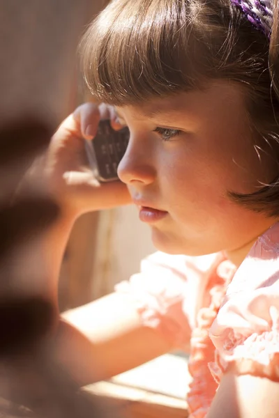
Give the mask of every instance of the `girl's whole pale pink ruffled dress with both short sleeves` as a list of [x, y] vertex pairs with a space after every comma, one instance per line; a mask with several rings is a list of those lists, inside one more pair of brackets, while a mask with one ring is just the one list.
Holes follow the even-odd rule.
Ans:
[[279, 381], [279, 223], [258, 238], [238, 270], [223, 254], [156, 253], [116, 286], [144, 325], [177, 347], [190, 341], [190, 418], [204, 418], [230, 362], [239, 374]]

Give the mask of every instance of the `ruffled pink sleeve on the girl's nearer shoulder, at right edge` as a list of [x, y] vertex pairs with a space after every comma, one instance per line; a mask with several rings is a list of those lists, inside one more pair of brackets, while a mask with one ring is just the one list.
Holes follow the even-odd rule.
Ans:
[[278, 242], [275, 224], [257, 240], [227, 288], [210, 330], [216, 362], [209, 366], [217, 375], [234, 362], [239, 374], [279, 381]]

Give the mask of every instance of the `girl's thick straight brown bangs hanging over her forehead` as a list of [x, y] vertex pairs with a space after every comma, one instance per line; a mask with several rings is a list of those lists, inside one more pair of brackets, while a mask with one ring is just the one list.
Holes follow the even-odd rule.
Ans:
[[80, 46], [95, 98], [123, 105], [199, 88], [204, 42], [195, 28], [199, 10], [189, 8], [190, 1], [112, 1]]

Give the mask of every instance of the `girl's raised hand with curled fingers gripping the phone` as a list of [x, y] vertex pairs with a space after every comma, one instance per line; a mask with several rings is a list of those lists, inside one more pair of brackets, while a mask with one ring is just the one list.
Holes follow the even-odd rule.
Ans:
[[130, 203], [126, 185], [120, 181], [99, 183], [86, 158], [84, 139], [91, 140], [100, 119], [108, 118], [115, 130], [121, 128], [112, 107], [82, 104], [52, 137], [45, 163], [48, 183], [62, 210], [75, 216]]

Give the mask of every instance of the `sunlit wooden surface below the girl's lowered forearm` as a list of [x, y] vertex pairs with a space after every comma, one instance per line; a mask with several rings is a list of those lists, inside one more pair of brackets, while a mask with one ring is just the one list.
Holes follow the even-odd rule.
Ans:
[[187, 359], [163, 355], [84, 390], [98, 396], [109, 417], [114, 417], [110, 411], [117, 411], [119, 418], [186, 418], [189, 381]]

